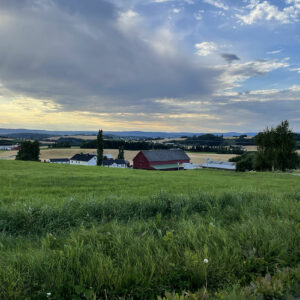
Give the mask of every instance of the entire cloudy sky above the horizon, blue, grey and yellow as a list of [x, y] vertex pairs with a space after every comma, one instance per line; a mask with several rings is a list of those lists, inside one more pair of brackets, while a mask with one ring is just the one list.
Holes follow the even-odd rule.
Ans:
[[0, 127], [300, 132], [300, 0], [1, 0]]

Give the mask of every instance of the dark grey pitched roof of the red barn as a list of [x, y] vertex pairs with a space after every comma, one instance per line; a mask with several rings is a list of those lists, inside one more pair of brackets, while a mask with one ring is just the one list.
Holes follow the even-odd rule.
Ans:
[[174, 150], [143, 150], [141, 151], [148, 161], [172, 161], [172, 160], [190, 160], [190, 158], [181, 149]]

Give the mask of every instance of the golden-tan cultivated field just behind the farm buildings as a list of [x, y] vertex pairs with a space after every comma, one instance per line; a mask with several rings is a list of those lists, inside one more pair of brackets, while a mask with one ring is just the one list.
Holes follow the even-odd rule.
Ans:
[[[125, 159], [132, 164], [133, 158], [139, 151], [128, 151], [125, 150]], [[80, 148], [63, 148], [63, 149], [49, 149], [41, 148], [40, 159], [42, 161], [48, 160], [49, 158], [71, 158], [77, 153], [93, 153], [96, 154], [95, 149], [80, 149]], [[119, 150], [117, 149], [105, 149], [104, 154], [112, 154], [113, 157], [117, 157]], [[228, 161], [229, 158], [235, 156], [230, 154], [214, 154], [214, 153], [187, 153], [191, 158], [191, 162], [195, 164], [203, 164], [207, 158], [212, 160]], [[0, 159], [15, 159], [17, 151], [5, 151], [0, 152]]]

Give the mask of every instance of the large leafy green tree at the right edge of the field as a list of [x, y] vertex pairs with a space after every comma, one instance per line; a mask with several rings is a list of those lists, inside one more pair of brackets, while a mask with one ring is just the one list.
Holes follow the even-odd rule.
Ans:
[[256, 169], [286, 171], [297, 167], [295, 135], [289, 129], [287, 120], [276, 128], [266, 128], [260, 132], [255, 137], [255, 142], [258, 146]]

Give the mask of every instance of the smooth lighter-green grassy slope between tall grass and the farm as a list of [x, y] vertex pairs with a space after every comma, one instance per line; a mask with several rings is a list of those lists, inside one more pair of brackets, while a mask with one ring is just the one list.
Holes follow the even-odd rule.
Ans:
[[194, 170], [152, 172], [86, 166], [0, 160], [3, 204], [19, 201], [60, 205], [75, 197], [85, 199], [147, 198], [164, 190], [170, 194], [206, 191], [299, 191], [300, 178], [287, 174], [235, 173]]

